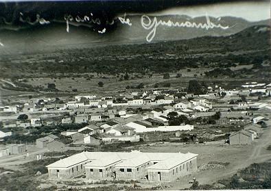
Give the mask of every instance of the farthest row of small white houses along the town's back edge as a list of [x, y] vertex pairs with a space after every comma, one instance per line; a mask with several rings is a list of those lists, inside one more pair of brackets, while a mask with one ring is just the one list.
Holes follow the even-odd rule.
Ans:
[[[178, 91], [177, 91], [178, 92]], [[208, 87], [208, 93], [195, 96], [193, 94], [187, 94], [184, 92], [184, 95], [180, 97], [174, 96], [174, 94], [163, 94], [165, 97], [161, 99], [156, 99], [157, 95], [161, 95], [161, 91], [154, 90], [152, 92], [132, 92], [131, 94], [120, 94], [119, 96], [122, 98], [118, 103], [113, 101], [113, 97], [102, 97], [98, 98], [97, 95], [78, 95], [75, 96], [75, 101], [68, 101], [67, 103], [56, 103], [56, 104], [48, 104], [51, 102], [51, 99], [44, 99], [43, 102], [43, 111], [47, 110], [67, 110], [78, 107], [114, 107], [114, 106], [138, 106], [138, 105], [163, 105], [174, 103], [176, 99], [187, 99], [189, 97], [206, 97], [212, 98], [220, 96], [224, 94], [225, 97], [233, 96], [236, 94], [244, 94], [248, 95], [251, 93], [262, 93], [263, 96], [270, 96], [271, 92], [271, 84], [259, 84], [257, 82], [247, 82], [246, 84], [241, 85], [241, 88], [236, 88], [233, 90], [224, 90], [221, 87], [215, 86]], [[195, 110], [208, 110], [210, 105], [206, 103], [200, 103], [194, 105]], [[23, 112], [35, 112], [38, 111], [35, 103], [25, 103], [23, 105]], [[3, 112], [18, 112], [18, 107], [15, 106], [5, 106], [3, 107]]]

